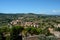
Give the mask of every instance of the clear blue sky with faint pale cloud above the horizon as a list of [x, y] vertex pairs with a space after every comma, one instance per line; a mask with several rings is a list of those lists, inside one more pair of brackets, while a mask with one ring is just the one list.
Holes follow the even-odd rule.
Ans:
[[60, 14], [60, 0], [0, 0], [0, 13]]

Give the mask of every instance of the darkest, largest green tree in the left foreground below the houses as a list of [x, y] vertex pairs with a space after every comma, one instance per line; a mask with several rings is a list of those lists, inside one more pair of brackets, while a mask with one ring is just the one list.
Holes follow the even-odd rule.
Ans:
[[10, 40], [18, 40], [17, 37], [22, 32], [24, 28], [21, 26], [13, 26], [10, 32], [11, 39]]

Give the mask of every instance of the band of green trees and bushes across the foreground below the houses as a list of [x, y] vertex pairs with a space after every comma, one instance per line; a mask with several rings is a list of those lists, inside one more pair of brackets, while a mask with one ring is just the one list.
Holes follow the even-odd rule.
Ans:
[[28, 37], [32, 35], [45, 34], [47, 36], [52, 35], [48, 30], [42, 30], [41, 28], [28, 27], [24, 28], [21, 26], [1, 27], [0, 28], [0, 40], [19, 40], [18, 38]]

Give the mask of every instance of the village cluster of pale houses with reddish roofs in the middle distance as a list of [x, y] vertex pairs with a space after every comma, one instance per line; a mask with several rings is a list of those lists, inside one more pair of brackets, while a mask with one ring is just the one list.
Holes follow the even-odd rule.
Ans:
[[33, 27], [39, 27], [39, 22], [24, 22], [24, 21], [21, 21], [21, 20], [13, 20], [12, 22], [10, 22], [12, 25], [16, 25], [16, 24], [19, 24], [20, 26], [33, 26]]

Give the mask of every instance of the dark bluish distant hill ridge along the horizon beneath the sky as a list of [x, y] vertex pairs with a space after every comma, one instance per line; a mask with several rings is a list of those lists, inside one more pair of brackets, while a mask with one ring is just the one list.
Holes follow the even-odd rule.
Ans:
[[37, 16], [60, 16], [60, 13], [57, 14], [36, 14], [36, 13], [0, 13], [0, 15], [37, 15]]

